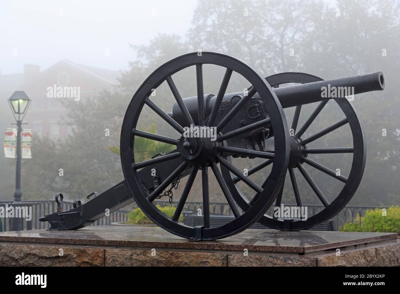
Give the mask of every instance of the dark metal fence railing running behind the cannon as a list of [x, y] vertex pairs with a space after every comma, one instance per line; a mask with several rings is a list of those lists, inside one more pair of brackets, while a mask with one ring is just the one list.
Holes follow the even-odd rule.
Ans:
[[[178, 202], [172, 202], [171, 204], [168, 201], [157, 201], [156, 204], [160, 204], [161, 206], [176, 206]], [[62, 211], [67, 211], [72, 209], [72, 202], [63, 201], [62, 202]], [[0, 207], [3, 207], [4, 210], [6, 208], [10, 209], [11, 206], [26, 206], [32, 207], [30, 218], [31, 220], [26, 220], [26, 218], [22, 218], [22, 228], [23, 230], [36, 230], [36, 229], [45, 229], [48, 228], [47, 222], [39, 222], [40, 216], [44, 216], [46, 214], [51, 214], [57, 210], [56, 202], [54, 200], [27, 200], [24, 202], [20, 202], [18, 204], [13, 204], [9, 201], [0, 201]], [[285, 206], [296, 206], [296, 204], [285, 204]], [[319, 204], [308, 204], [304, 205], [307, 207], [308, 217], [318, 213], [323, 209], [323, 205]], [[135, 208], [136, 205], [130, 205], [130, 207]], [[197, 214], [198, 209], [203, 208], [202, 202], [186, 202], [182, 213], [184, 214]], [[385, 206], [346, 206], [341, 212], [339, 212], [333, 219], [336, 221], [336, 226], [339, 228], [343, 226], [346, 222], [354, 222], [356, 220], [357, 215], [364, 216], [366, 210], [374, 209], [374, 208], [385, 208]], [[268, 210], [268, 214], [271, 215], [272, 208]], [[110, 225], [112, 222], [126, 222], [128, 220], [129, 210], [117, 210], [112, 212], [110, 216], [105, 216], [100, 218], [96, 222], [94, 222], [91, 226], [98, 225]], [[226, 202], [210, 202], [210, 213], [214, 215], [233, 215], [232, 211]], [[11, 231], [12, 230], [12, 221], [14, 218], [8, 217], [0, 217], [0, 231]], [[361, 218], [358, 220], [361, 224]]]

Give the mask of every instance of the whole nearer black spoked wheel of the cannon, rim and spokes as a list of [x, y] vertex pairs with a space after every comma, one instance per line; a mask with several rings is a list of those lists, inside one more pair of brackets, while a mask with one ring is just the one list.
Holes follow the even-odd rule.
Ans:
[[[225, 76], [220, 86], [220, 91], [216, 98], [215, 106], [208, 118], [204, 117], [204, 93], [203, 93], [203, 64], [215, 64], [226, 68]], [[195, 125], [194, 120], [190, 116], [186, 105], [184, 104], [182, 97], [180, 96], [177, 87], [174, 84], [172, 75], [176, 72], [187, 68], [189, 66], [196, 67], [196, 84], [198, 94], [198, 124], [199, 127], [213, 126], [213, 122], [222, 102], [226, 87], [230, 80], [232, 72], [237, 72], [242, 75], [248, 82], [252, 84], [252, 90], [248, 92], [247, 96], [244, 96], [242, 100], [236, 104], [234, 108], [226, 115], [224, 120], [218, 123], [216, 126], [218, 130], [218, 137], [216, 141], [211, 141], [209, 138], [188, 138], [187, 136], [181, 136], [180, 138], [169, 138], [166, 136], [160, 136], [158, 134], [150, 134], [137, 130], [136, 124], [144, 104], [148, 105], [154, 110], [159, 116], [161, 116], [172, 128], [184, 134], [182, 125], [178, 124], [168, 114], [166, 114], [161, 108], [159, 108], [154, 102], [150, 100], [152, 89], [156, 89], [164, 81], [168, 82], [170, 90], [174, 95], [180, 110], [185, 117], [187, 126]], [[253, 151], [248, 149], [234, 148], [229, 149], [228, 146], [224, 145], [224, 140], [220, 139], [220, 131], [224, 129], [224, 126], [234, 118], [238, 110], [252, 98], [252, 96], [258, 92], [262, 97], [266, 109], [268, 110], [269, 118], [260, 124], [269, 124], [275, 132], [275, 147], [276, 151], [274, 154], [268, 152]], [[259, 128], [260, 125], [253, 126]], [[231, 132], [227, 136], [237, 136], [242, 134], [244, 131], [251, 131], [251, 127], [246, 129], [239, 129], [235, 132]], [[166, 142], [169, 144], [176, 145], [176, 150], [151, 160], [144, 162], [135, 161], [134, 153], [134, 141], [135, 136], [149, 138], [160, 142]], [[228, 149], [227, 149], [228, 148]], [[228, 153], [241, 154], [243, 156], [261, 157], [261, 158], [273, 158], [271, 176], [268, 178], [266, 188], [261, 188], [251, 180], [246, 180], [252, 189], [259, 193], [258, 199], [254, 202], [254, 205], [246, 209], [244, 213], [239, 212], [232, 198], [231, 192], [227, 187], [224, 178], [222, 177], [218, 164], [224, 166], [227, 170], [230, 170], [234, 174], [242, 174], [238, 171], [227, 159]], [[196, 53], [190, 53], [173, 60], [170, 60], [166, 64], [156, 69], [138, 88], [134, 94], [122, 124], [121, 141], [120, 141], [120, 153], [121, 163], [124, 172], [124, 177], [128, 184], [130, 191], [133, 194], [138, 206], [142, 211], [153, 220], [158, 226], [164, 228], [168, 232], [176, 234], [178, 236], [192, 239], [192, 240], [216, 240], [224, 237], [231, 236], [242, 230], [245, 230], [261, 218], [269, 206], [272, 205], [278, 192], [282, 186], [282, 179], [286, 175], [288, 168], [288, 155], [289, 155], [289, 136], [288, 128], [286, 124], [286, 118], [282, 107], [280, 106], [279, 100], [276, 95], [266, 83], [265, 79], [256, 74], [250, 67], [244, 64], [242, 61], [237, 60], [233, 57], [226, 56], [223, 54], [202, 52], [201, 56]], [[229, 157], [229, 156], [228, 156]], [[181, 163], [177, 168], [168, 176], [164, 182], [162, 182], [151, 194], [146, 192], [142, 182], [140, 180], [139, 170], [147, 166], [151, 166], [156, 163], [166, 162], [168, 163], [173, 159], [181, 159]], [[232, 209], [235, 219], [230, 221], [228, 224], [219, 227], [210, 226], [210, 209], [209, 209], [209, 190], [208, 190], [208, 168], [211, 168], [215, 174], [218, 184]], [[178, 222], [178, 218], [182, 212], [186, 199], [192, 188], [192, 184], [198, 173], [201, 170], [202, 176], [202, 196], [203, 196], [203, 211], [204, 226], [202, 227], [191, 227], [186, 226]], [[186, 186], [183, 189], [182, 195], [178, 202], [176, 211], [172, 218], [163, 214], [155, 205], [154, 200], [156, 197], [170, 185], [175, 179], [180, 178], [183, 174], [189, 174]], [[147, 175], [141, 175], [147, 176]], [[148, 175], [150, 176], [150, 175]]]

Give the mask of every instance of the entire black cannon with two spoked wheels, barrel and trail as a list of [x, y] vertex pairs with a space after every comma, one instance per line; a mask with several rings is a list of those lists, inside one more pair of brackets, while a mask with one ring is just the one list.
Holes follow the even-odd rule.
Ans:
[[[203, 64], [224, 68], [216, 95], [204, 94]], [[196, 68], [197, 96], [182, 98], [172, 75], [190, 66]], [[232, 73], [240, 74], [249, 82], [242, 92], [227, 94]], [[172, 112], [166, 113], [151, 99], [154, 89], [165, 82], [176, 102]], [[292, 83], [294, 85], [284, 86]], [[74, 208], [63, 212], [62, 194], [56, 195], [58, 210], [42, 216], [40, 221], [50, 224], [49, 230], [73, 230], [92, 224], [108, 212], [136, 202], [142, 211], [158, 226], [190, 240], [217, 240], [237, 234], [260, 222], [269, 228], [283, 231], [304, 230], [324, 222], [344, 208], [360, 184], [366, 160], [366, 146], [358, 116], [346, 96], [383, 90], [382, 72], [348, 78], [323, 80], [317, 76], [286, 72], [262, 78], [244, 62], [214, 52], [190, 53], [179, 56], [157, 68], [134, 94], [124, 116], [120, 137], [120, 157], [124, 178], [106, 192], [92, 193], [84, 204], [74, 202]], [[332, 90], [333, 89], [333, 90]], [[334, 95], [332, 95], [334, 94]], [[306, 130], [321, 113], [329, 100], [334, 100], [344, 118], [312, 134]], [[318, 102], [306, 122], [298, 128], [302, 105]], [[144, 132], [137, 128], [138, 118], [147, 105], [170, 127], [179, 132], [179, 138]], [[296, 106], [289, 129], [284, 109]], [[352, 132], [352, 146], [309, 148], [308, 144], [348, 124]], [[174, 150], [150, 160], [135, 160], [135, 138], [143, 137], [176, 146]], [[273, 139], [272, 146], [266, 144]], [[271, 145], [271, 144], [270, 144]], [[308, 154], [352, 153], [350, 173], [343, 176], [308, 158]], [[232, 164], [232, 158], [262, 158], [263, 161], [246, 174]], [[307, 164], [319, 172], [343, 182], [344, 186], [333, 201], [328, 201], [320, 188], [304, 169]], [[218, 168], [219, 165], [219, 168]], [[270, 173], [261, 185], [248, 176], [270, 166]], [[210, 224], [208, 172], [215, 178], [232, 210], [234, 219], [221, 226]], [[307, 220], [276, 217], [266, 214], [271, 207], [280, 207], [286, 173], [294, 191], [296, 205], [303, 207], [302, 191], [298, 188], [294, 171], [298, 170], [310, 185], [323, 209]], [[203, 226], [186, 226], [179, 217], [190, 194], [196, 175], [202, 179]], [[163, 214], [155, 205], [156, 199], [177, 180], [187, 177], [176, 210], [172, 217]], [[156, 179], [156, 180], [155, 180]], [[245, 195], [238, 183], [243, 182], [254, 192]]]

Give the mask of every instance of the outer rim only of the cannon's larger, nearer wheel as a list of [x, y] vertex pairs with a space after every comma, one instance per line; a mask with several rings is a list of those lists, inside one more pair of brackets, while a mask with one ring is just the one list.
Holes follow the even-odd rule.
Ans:
[[158, 210], [145, 196], [145, 191], [140, 184], [140, 178], [138, 177], [137, 171], [132, 168], [132, 164], [135, 163], [133, 152], [134, 135], [132, 134], [132, 130], [136, 128], [139, 115], [144, 106], [144, 101], [150, 96], [151, 89], [157, 88], [162, 82], [164, 82], [167, 76], [171, 76], [188, 66], [196, 64], [219, 65], [231, 69], [234, 72], [238, 72], [246, 78], [246, 80], [252, 83], [254, 87], [260, 91], [260, 96], [263, 97], [262, 100], [266, 104], [267, 109], [270, 110], [269, 114], [271, 124], [280, 134], [277, 142], [280, 143], [281, 148], [275, 155], [276, 163], [274, 163], [274, 166], [272, 167], [273, 177], [271, 177], [269, 188], [262, 191], [261, 196], [256, 202], [257, 205], [251, 207], [248, 211], [244, 212], [241, 216], [235, 218], [228, 224], [216, 228], [202, 228], [202, 240], [216, 240], [237, 234], [260, 219], [275, 200], [277, 192], [280, 190], [281, 179], [286, 175], [289, 153], [286, 118], [278, 98], [264, 78], [256, 74], [254, 70], [242, 61], [224, 54], [213, 52], [202, 52], [201, 56], [198, 56], [197, 52], [189, 53], [166, 62], [146, 78], [134, 94], [126, 110], [121, 130], [120, 156], [122, 170], [128, 187], [132, 192], [136, 203], [146, 216], [148, 216], [158, 226], [172, 234], [187, 239], [194, 238], [196, 234], [194, 227], [173, 222], [170, 218], [162, 214], [160, 210]]

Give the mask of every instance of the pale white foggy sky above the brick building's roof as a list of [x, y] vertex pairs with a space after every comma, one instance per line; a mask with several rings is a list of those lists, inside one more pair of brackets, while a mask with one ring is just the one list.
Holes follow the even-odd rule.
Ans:
[[128, 69], [136, 59], [129, 44], [146, 44], [158, 33], [183, 36], [196, 2], [0, 0], [1, 74], [21, 73], [24, 64], [38, 64], [43, 71], [62, 59]]

